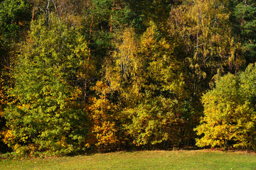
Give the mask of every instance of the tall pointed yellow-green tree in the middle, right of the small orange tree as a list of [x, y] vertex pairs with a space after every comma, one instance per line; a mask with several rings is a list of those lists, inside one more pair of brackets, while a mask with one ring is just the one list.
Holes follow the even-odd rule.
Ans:
[[133, 107], [124, 110], [131, 119], [126, 125], [129, 135], [134, 145], [179, 145], [184, 142], [183, 130], [186, 131], [182, 111], [186, 90], [181, 63], [173, 56], [174, 45], [151, 22], [137, 49], [139, 64], [134, 75], [139, 78], [134, 83], [139, 84], [141, 97], [138, 100], [138, 95], [129, 93], [129, 98], [137, 99]]

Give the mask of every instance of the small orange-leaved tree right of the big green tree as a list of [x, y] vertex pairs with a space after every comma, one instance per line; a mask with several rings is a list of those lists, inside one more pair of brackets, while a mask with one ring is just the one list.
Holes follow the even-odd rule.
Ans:
[[112, 95], [110, 87], [102, 81], [97, 81], [92, 88], [97, 96], [90, 97], [91, 127], [87, 144], [97, 149], [119, 149], [124, 142], [122, 115], [117, 103], [109, 98]]

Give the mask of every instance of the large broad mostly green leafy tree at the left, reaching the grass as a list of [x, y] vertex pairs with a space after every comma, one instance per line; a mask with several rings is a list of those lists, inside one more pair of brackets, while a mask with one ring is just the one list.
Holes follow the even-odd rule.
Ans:
[[81, 75], [87, 42], [79, 30], [51, 14], [31, 23], [21, 55], [14, 63], [16, 98], [4, 112], [5, 142], [16, 152], [74, 152], [85, 147], [87, 117]]

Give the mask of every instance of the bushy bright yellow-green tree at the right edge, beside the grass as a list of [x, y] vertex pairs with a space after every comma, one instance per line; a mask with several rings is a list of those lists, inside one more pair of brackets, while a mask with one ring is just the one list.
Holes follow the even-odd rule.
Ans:
[[221, 77], [215, 88], [203, 95], [204, 117], [195, 129], [199, 147], [255, 147], [255, 66], [238, 76]]

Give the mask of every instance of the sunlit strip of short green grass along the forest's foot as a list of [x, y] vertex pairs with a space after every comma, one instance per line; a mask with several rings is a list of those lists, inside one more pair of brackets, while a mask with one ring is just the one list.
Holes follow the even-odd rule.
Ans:
[[210, 150], [114, 152], [1, 160], [0, 169], [256, 169], [256, 154]]

